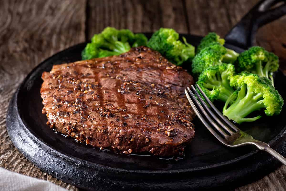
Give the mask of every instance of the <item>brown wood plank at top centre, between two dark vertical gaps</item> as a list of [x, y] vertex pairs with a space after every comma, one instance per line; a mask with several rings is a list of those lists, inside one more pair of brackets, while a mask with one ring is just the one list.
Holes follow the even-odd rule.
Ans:
[[179, 33], [188, 33], [183, 1], [88, 1], [87, 18], [89, 39], [107, 26], [134, 32], [170, 27]]

